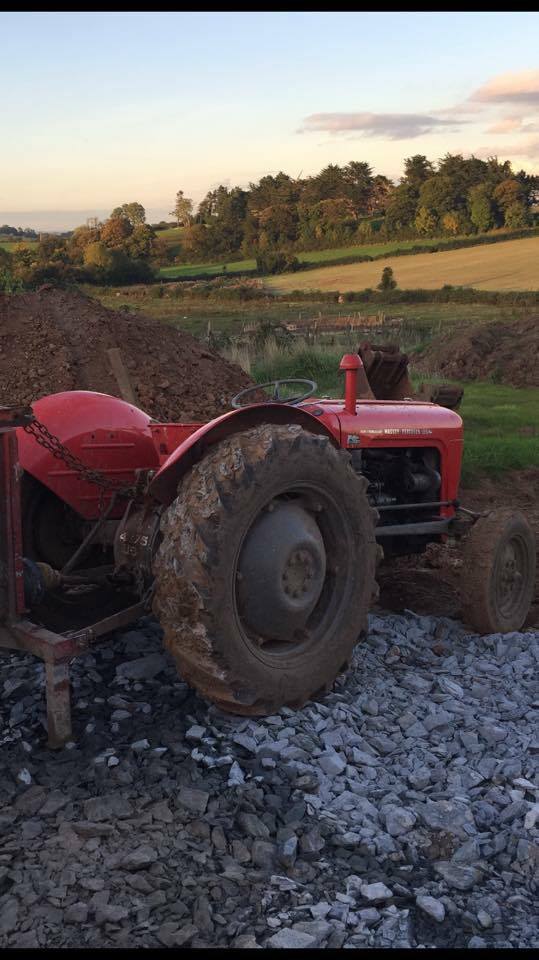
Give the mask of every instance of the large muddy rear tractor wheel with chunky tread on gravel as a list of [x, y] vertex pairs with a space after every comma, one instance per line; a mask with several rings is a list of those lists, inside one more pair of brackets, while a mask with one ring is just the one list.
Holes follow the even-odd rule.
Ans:
[[329, 438], [254, 427], [213, 447], [163, 514], [154, 613], [180, 675], [231, 713], [327, 692], [375, 593], [377, 513]]

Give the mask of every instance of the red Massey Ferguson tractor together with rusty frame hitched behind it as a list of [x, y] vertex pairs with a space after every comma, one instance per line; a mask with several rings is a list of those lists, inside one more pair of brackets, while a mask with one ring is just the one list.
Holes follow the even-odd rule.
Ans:
[[377, 399], [359, 354], [340, 368], [344, 400], [274, 381], [203, 424], [86, 391], [0, 408], [0, 646], [45, 661], [51, 746], [72, 737], [70, 660], [150, 611], [183, 679], [255, 715], [331, 687], [384, 556], [465, 537], [463, 618], [522, 627], [534, 535], [460, 507], [460, 416]]

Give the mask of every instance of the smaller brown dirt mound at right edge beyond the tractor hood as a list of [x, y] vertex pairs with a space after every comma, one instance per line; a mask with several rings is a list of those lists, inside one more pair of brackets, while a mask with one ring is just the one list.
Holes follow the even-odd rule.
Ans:
[[481, 324], [433, 343], [414, 370], [450, 380], [487, 380], [539, 387], [539, 317]]

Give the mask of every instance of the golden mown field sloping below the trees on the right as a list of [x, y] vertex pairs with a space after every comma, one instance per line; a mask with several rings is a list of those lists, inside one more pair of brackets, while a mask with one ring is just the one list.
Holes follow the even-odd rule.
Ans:
[[306, 273], [268, 277], [275, 293], [292, 290], [364, 290], [375, 288], [384, 267], [391, 267], [401, 289], [437, 289], [444, 284], [478, 290], [538, 290], [539, 237], [467, 247], [375, 263], [324, 267]]

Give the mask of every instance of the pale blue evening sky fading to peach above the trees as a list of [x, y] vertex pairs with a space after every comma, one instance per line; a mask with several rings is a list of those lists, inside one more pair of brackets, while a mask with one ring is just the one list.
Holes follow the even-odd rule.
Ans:
[[0, 223], [365, 160], [539, 173], [538, 13], [0, 13]]

